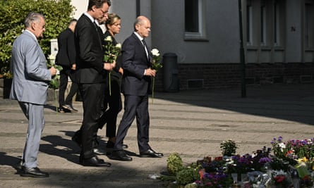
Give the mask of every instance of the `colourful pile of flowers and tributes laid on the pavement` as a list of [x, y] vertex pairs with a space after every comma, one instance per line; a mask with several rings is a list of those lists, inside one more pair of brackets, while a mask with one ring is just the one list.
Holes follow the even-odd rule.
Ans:
[[310, 188], [314, 180], [314, 139], [283, 141], [274, 138], [272, 147], [245, 155], [236, 154], [236, 142], [231, 139], [220, 144], [222, 156], [183, 165], [179, 153], [167, 159], [167, 173], [161, 180], [168, 187], [277, 187]]

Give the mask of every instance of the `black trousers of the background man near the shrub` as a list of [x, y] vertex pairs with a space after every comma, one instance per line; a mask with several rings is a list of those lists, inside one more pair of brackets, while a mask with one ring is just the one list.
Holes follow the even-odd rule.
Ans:
[[[73, 82], [72, 79], [72, 71], [68, 66], [62, 66], [62, 70], [60, 71], [60, 85], [59, 85], [59, 108], [61, 108], [64, 104], [69, 104], [72, 106], [73, 96], [78, 92], [78, 84]], [[68, 77], [71, 78], [72, 84], [70, 92], [68, 92], [68, 96], [66, 96], [66, 100], [64, 100], [64, 94], [66, 92], [66, 86], [68, 85]]]

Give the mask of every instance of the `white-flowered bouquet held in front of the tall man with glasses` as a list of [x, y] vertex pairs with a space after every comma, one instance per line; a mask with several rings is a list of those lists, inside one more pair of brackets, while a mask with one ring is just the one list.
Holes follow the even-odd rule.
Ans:
[[[104, 39], [106, 45], [104, 45], [104, 58], [103, 61], [107, 63], [114, 63], [116, 58], [121, 53], [121, 44], [118, 43], [114, 45], [113, 39], [111, 36], [108, 36]], [[109, 94], [111, 95], [111, 71], [109, 72]]]

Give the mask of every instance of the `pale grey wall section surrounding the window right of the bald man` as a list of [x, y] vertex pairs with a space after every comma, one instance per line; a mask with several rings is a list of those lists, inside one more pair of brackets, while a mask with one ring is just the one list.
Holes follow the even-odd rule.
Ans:
[[184, 1], [152, 1], [152, 46], [179, 63], [238, 63], [238, 1], [207, 1], [208, 41], [184, 40]]

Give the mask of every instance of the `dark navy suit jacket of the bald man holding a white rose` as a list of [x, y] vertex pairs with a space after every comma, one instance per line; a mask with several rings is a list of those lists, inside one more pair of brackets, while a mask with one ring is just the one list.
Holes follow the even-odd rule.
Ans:
[[144, 75], [149, 67], [143, 44], [133, 33], [122, 44], [122, 93], [135, 96], [151, 94], [151, 77]]

